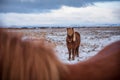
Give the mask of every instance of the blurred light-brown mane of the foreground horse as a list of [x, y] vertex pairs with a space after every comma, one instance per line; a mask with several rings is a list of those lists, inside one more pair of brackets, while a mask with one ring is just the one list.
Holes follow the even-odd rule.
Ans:
[[67, 68], [50, 47], [0, 29], [0, 80], [58, 80]]

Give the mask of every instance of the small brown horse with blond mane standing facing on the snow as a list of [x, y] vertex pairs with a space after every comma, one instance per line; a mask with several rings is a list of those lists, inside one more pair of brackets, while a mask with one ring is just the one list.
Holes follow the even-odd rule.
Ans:
[[80, 34], [78, 32], [74, 32], [73, 28], [67, 28], [67, 37], [66, 37], [66, 45], [69, 53], [69, 60], [75, 59], [75, 56], [79, 57], [79, 46], [80, 46]]

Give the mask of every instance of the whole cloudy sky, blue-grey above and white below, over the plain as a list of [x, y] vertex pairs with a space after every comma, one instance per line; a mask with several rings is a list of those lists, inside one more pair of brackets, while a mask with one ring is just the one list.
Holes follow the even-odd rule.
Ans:
[[0, 26], [120, 24], [120, 0], [0, 0]]

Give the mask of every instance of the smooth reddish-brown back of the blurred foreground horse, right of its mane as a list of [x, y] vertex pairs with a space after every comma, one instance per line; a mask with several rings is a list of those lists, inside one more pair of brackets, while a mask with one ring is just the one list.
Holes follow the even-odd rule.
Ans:
[[67, 66], [69, 73], [61, 80], [120, 80], [120, 41], [108, 45], [91, 59]]

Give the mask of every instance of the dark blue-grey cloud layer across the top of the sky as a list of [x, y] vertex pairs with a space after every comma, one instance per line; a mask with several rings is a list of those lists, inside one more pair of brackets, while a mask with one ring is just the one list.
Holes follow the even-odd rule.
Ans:
[[94, 2], [104, 1], [113, 0], [0, 0], [0, 12], [46, 12], [51, 9], [59, 9], [63, 5], [70, 7], [85, 7], [94, 5]]

